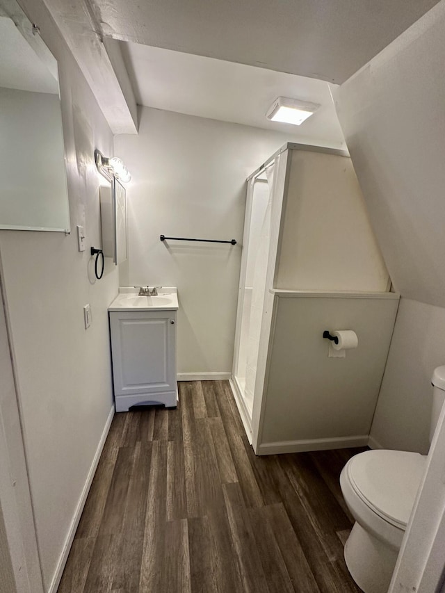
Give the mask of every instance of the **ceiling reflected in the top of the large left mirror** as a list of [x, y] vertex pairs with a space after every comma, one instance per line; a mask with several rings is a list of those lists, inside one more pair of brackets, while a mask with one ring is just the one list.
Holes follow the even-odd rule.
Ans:
[[0, 39], [0, 87], [58, 93], [58, 82], [8, 17], [0, 17]]

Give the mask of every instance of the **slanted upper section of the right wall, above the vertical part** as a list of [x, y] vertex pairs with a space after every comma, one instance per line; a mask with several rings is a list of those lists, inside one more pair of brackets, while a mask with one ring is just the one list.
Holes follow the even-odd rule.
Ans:
[[444, 39], [441, 2], [336, 98], [396, 291], [439, 307], [445, 307]]

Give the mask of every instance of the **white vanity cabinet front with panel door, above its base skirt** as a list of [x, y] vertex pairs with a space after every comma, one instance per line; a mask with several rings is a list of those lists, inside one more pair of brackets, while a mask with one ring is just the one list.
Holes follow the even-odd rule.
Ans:
[[115, 396], [176, 389], [175, 311], [110, 313]]

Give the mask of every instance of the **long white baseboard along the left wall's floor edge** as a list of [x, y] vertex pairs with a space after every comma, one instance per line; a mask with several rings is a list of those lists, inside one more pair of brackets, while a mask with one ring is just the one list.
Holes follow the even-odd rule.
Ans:
[[108, 414], [108, 418], [106, 419], [106, 423], [104, 426], [104, 430], [102, 431], [99, 444], [97, 445], [95, 457], [92, 460], [92, 464], [90, 466], [90, 471], [88, 471], [88, 476], [86, 478], [85, 485], [83, 486], [79, 502], [77, 503], [76, 510], [74, 512], [74, 517], [72, 518], [70, 529], [68, 530], [68, 534], [65, 539], [65, 544], [63, 544], [62, 553], [60, 554], [60, 557], [57, 562], [56, 571], [54, 572], [54, 576], [51, 580], [51, 585], [49, 585], [48, 593], [56, 593], [58, 585], [60, 585], [60, 579], [62, 578], [63, 569], [65, 568], [65, 564], [68, 559], [68, 554], [70, 553], [74, 535], [76, 535], [77, 526], [79, 525], [79, 521], [81, 520], [83, 507], [85, 506], [88, 492], [90, 492], [92, 478], [95, 477], [97, 464], [99, 463], [100, 455], [102, 453], [102, 449], [104, 448], [108, 430], [110, 430], [111, 421], [113, 421], [114, 413], [115, 412], [113, 404], [113, 407], [111, 408], [110, 413]]

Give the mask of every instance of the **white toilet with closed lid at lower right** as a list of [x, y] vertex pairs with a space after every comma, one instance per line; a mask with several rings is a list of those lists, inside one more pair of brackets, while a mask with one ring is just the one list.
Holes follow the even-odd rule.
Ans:
[[[432, 374], [430, 441], [445, 400], [445, 366]], [[340, 476], [346, 504], [355, 519], [345, 560], [364, 593], [387, 593], [426, 455], [371, 450], [352, 457]]]

